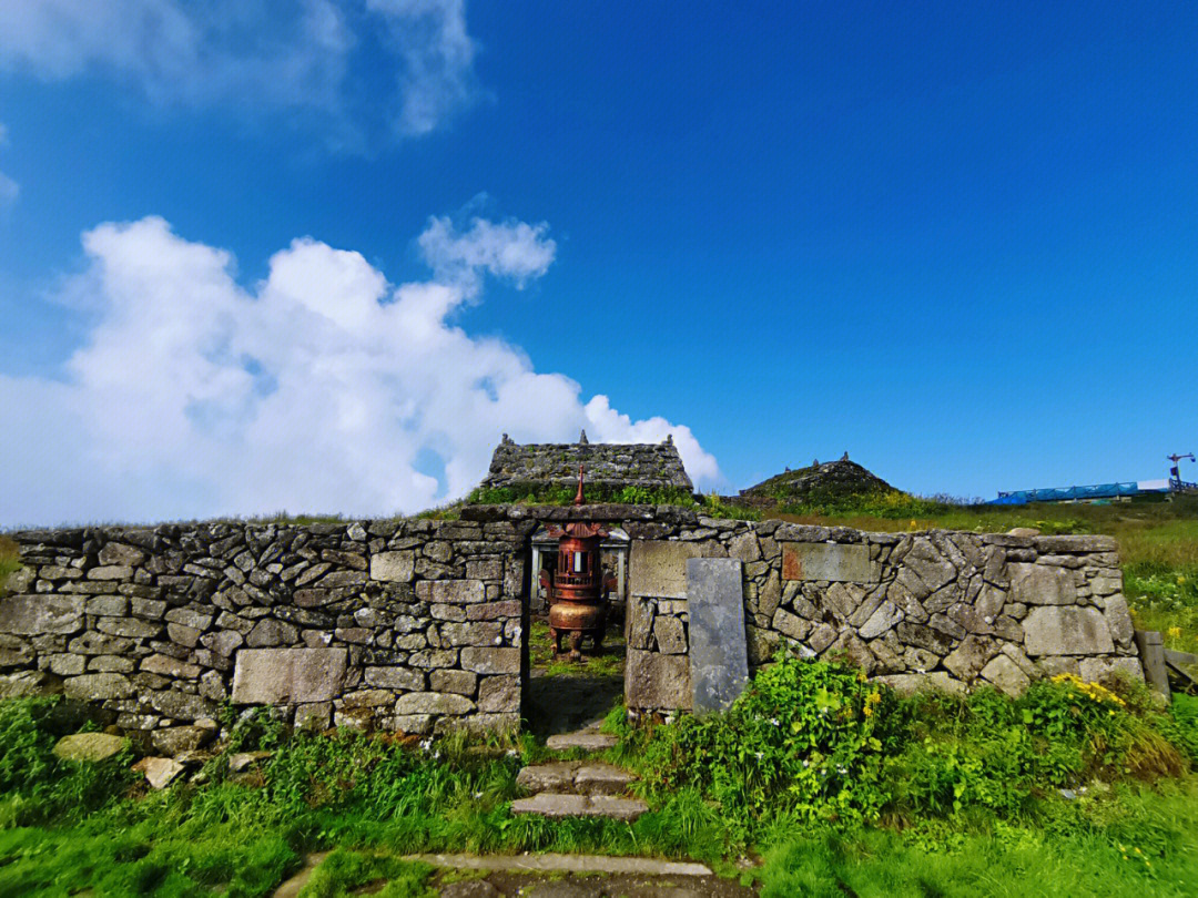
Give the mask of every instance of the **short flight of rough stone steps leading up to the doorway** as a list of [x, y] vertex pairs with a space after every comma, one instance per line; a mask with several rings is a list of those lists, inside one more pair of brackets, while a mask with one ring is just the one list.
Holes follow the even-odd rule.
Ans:
[[[576, 733], [550, 736], [550, 751], [582, 748], [601, 752], [616, 745], [616, 738], [592, 724]], [[514, 814], [539, 814], [546, 818], [607, 817], [631, 823], [648, 806], [628, 796], [628, 784], [636, 777], [601, 760], [553, 760], [525, 767], [516, 783], [532, 797], [512, 803]]]

